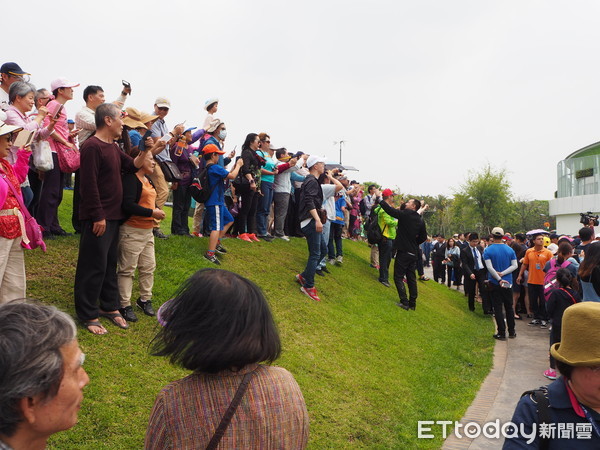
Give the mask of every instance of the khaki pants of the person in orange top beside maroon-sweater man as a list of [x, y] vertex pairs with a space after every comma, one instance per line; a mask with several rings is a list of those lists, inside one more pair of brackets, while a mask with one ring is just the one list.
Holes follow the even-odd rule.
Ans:
[[131, 291], [135, 269], [138, 269], [140, 282], [140, 298], [152, 300], [154, 285], [154, 235], [152, 228], [134, 228], [122, 225], [119, 230], [119, 260], [117, 264], [117, 281], [121, 307], [131, 305]]

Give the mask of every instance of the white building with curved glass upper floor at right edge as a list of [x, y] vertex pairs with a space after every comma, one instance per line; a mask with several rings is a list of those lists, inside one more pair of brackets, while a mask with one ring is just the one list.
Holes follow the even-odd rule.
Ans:
[[600, 211], [600, 142], [571, 153], [558, 163], [558, 189], [550, 200], [559, 234], [574, 235], [583, 226], [580, 213]]

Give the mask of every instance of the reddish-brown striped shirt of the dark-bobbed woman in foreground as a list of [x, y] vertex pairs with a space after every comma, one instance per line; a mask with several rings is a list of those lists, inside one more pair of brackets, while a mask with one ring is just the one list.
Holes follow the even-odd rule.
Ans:
[[[206, 448], [244, 375], [196, 373], [166, 386], [154, 403], [146, 449]], [[258, 365], [219, 448], [302, 449], [308, 413], [300, 387], [281, 367]]]

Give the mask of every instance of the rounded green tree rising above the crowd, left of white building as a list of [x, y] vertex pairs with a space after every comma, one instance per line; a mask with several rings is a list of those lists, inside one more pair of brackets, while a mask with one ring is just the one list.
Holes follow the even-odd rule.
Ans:
[[474, 224], [484, 233], [503, 225], [511, 209], [510, 188], [505, 169], [496, 170], [487, 164], [472, 172], [455, 197], [462, 223]]

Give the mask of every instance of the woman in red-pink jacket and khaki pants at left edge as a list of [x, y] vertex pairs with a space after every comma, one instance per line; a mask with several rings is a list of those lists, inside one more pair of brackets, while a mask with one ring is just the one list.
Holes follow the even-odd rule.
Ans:
[[25, 231], [20, 205], [21, 183], [27, 176], [31, 152], [20, 149], [14, 165], [7, 159], [16, 133], [21, 130], [0, 122], [0, 303], [25, 297], [25, 259], [21, 247]]

